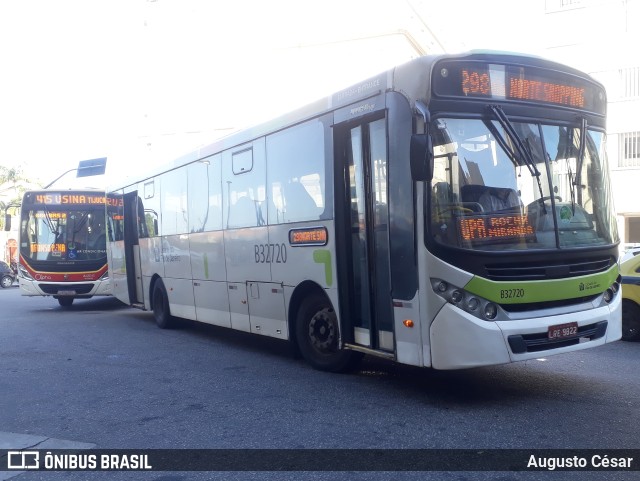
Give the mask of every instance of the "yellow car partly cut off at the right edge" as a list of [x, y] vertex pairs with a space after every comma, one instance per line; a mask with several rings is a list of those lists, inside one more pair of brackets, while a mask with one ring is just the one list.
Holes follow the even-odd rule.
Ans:
[[622, 339], [640, 340], [640, 251], [620, 264], [622, 275]]

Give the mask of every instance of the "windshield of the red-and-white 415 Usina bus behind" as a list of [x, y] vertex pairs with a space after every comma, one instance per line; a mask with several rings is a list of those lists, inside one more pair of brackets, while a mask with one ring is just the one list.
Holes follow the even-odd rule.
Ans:
[[31, 260], [88, 261], [107, 256], [104, 207], [42, 208], [23, 214], [21, 254]]

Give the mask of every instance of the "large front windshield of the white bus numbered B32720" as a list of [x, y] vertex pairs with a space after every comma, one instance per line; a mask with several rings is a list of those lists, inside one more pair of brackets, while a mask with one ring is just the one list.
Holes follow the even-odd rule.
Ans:
[[603, 132], [485, 119], [431, 125], [432, 238], [474, 250], [566, 249], [617, 242]]

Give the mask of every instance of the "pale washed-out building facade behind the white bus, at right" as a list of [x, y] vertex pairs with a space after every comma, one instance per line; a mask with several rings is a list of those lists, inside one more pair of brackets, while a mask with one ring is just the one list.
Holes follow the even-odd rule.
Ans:
[[547, 56], [607, 89], [607, 153], [623, 249], [640, 245], [640, 0], [545, 0]]

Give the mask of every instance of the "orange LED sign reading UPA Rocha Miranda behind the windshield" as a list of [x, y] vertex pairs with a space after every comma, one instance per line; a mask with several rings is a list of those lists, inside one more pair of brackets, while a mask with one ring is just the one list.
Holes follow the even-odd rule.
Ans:
[[533, 239], [535, 232], [523, 215], [463, 217], [458, 220], [460, 237], [465, 242], [500, 242]]

